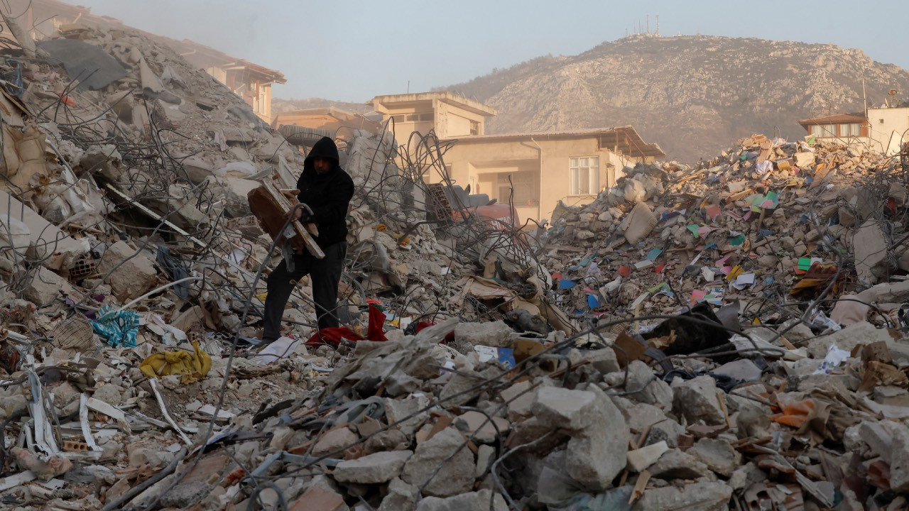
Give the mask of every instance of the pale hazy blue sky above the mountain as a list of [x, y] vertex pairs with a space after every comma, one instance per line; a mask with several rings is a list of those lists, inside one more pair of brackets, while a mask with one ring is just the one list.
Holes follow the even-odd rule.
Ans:
[[909, 69], [909, 0], [75, 0], [285, 74], [282, 98], [426, 92], [634, 33], [832, 43]]

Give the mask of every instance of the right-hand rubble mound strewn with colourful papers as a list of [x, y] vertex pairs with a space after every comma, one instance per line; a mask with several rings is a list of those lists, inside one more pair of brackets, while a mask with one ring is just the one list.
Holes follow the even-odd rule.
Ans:
[[814, 298], [834, 273], [838, 295], [909, 269], [896, 243], [903, 168], [862, 145], [763, 135], [694, 168], [638, 164], [592, 204], [559, 206], [542, 261], [561, 270], [559, 303], [573, 316], [741, 299], [750, 319], [779, 322], [793, 311], [774, 302]]

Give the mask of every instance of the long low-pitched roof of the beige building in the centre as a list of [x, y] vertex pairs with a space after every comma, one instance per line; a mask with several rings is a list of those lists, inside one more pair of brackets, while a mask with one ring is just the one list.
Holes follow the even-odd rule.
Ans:
[[644, 142], [644, 139], [641, 138], [641, 135], [638, 135], [637, 130], [635, 130], [631, 125], [586, 130], [466, 135], [450, 137], [449, 140], [457, 140], [461, 143], [470, 143], [487, 140], [526, 140], [529, 138], [552, 140], [578, 138], [582, 136], [597, 136], [600, 138], [600, 145], [602, 147], [619, 151], [624, 155], [654, 158], [666, 157], [666, 154], [659, 145], [648, 144]]

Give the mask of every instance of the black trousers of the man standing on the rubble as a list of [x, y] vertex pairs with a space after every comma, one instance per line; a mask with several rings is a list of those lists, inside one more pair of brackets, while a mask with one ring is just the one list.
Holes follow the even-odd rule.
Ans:
[[287, 265], [281, 261], [272, 275], [268, 276], [265, 332], [262, 336], [264, 340], [274, 341], [281, 336], [281, 317], [284, 316], [287, 299], [294, 291], [297, 281], [307, 275], [313, 283], [313, 301], [319, 329], [340, 326], [335, 309], [338, 301], [338, 283], [341, 282], [344, 258], [347, 255], [347, 242], [329, 245], [322, 251], [325, 252], [324, 259], [316, 259], [309, 252], [296, 254], [293, 272], [288, 272]]

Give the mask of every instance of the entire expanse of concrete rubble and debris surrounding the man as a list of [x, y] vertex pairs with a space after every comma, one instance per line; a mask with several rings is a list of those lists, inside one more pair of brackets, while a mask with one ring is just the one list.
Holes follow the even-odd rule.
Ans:
[[355, 132], [345, 331], [301, 286], [261, 347], [246, 197], [302, 155], [65, 35], [3, 65], [4, 506], [905, 508], [905, 152], [755, 136], [525, 232], [422, 182], [450, 143]]

